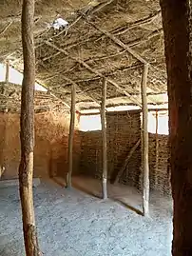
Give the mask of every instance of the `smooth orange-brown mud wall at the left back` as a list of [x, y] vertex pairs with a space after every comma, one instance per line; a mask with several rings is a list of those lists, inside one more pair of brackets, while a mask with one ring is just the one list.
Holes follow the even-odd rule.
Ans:
[[[0, 113], [0, 165], [6, 167], [2, 178], [18, 177], [20, 161], [19, 114]], [[76, 118], [78, 128], [78, 116]], [[67, 172], [69, 114], [45, 112], [35, 114], [34, 176], [65, 176]], [[74, 167], [78, 166], [80, 142], [74, 140]]]

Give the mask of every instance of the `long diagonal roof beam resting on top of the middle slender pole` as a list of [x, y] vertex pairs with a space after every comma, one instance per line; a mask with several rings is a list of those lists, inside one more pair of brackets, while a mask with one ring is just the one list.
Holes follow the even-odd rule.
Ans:
[[[82, 66], [84, 66], [86, 69], [88, 69], [89, 71], [99, 75], [101, 78], [106, 78], [105, 75], [103, 75], [102, 73], [100, 73], [99, 71], [97, 71], [96, 69], [92, 69], [89, 65], [87, 65], [84, 61], [80, 60], [77, 57], [73, 57], [70, 56], [70, 54], [67, 52], [67, 50], [65, 49], [60, 49], [58, 47], [56, 47], [55, 45], [53, 45], [52, 43], [46, 41], [45, 44], [47, 44], [49, 47], [53, 48], [53, 49], [57, 49], [58, 51], [63, 52], [64, 54], [66, 54], [71, 60], [74, 60], [75, 62], [80, 63]], [[130, 100], [134, 103], [137, 104], [138, 106], [142, 107], [141, 103], [133, 98], [127, 91], [125, 91], [125, 89], [122, 89], [114, 80], [112, 79], [108, 79], [106, 78], [106, 82], [110, 83], [111, 85], [113, 85], [114, 87], [116, 87], [116, 89], [118, 89], [121, 93], [124, 93], [127, 97], [130, 98]]]

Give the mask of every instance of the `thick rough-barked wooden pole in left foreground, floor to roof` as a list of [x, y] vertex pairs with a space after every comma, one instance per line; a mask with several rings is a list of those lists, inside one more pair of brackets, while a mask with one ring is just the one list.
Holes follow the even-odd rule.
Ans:
[[27, 256], [40, 255], [35, 226], [32, 177], [34, 148], [34, 84], [35, 53], [33, 43], [34, 0], [23, 0], [22, 45], [24, 56], [24, 78], [21, 95], [21, 162], [19, 166], [19, 188], [23, 215], [23, 231]]

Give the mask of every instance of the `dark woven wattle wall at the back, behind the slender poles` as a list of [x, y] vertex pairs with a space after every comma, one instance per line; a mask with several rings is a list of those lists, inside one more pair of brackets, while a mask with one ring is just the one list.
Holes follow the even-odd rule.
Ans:
[[[130, 149], [141, 139], [139, 111], [106, 114], [108, 178], [113, 181], [124, 166]], [[80, 132], [81, 161], [80, 173], [98, 179], [102, 178], [102, 134], [101, 131]], [[169, 194], [168, 136], [158, 135], [158, 158], [156, 158], [156, 135], [149, 133], [150, 188]], [[120, 182], [142, 189], [143, 172], [141, 145], [132, 155]]]

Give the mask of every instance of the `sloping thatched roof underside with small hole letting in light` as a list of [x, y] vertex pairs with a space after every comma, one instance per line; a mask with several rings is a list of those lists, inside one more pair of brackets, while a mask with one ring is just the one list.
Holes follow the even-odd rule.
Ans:
[[[0, 55], [22, 70], [21, 1], [1, 5]], [[48, 26], [58, 16], [67, 30]], [[98, 108], [106, 77], [107, 106], [141, 106], [143, 61], [149, 63], [148, 104], [167, 104], [159, 1], [37, 0], [35, 47], [37, 81], [67, 105], [76, 83], [77, 108]]]

